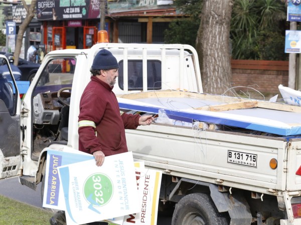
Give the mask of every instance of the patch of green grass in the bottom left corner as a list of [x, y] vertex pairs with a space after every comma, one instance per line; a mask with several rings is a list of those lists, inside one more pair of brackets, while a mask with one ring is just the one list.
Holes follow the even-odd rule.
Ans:
[[53, 212], [0, 195], [0, 225], [46, 225]]

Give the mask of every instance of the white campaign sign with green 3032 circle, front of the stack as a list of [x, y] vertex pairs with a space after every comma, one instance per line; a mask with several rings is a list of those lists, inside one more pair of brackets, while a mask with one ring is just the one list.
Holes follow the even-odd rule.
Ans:
[[132, 152], [59, 166], [67, 224], [83, 224], [139, 212]]

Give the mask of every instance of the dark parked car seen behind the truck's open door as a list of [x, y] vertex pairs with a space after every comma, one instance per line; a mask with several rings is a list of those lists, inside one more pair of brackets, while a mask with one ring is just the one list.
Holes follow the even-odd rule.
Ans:
[[[0, 54], [6, 54], [6, 52], [0, 51]], [[0, 65], [2, 65], [2, 61], [0, 61]], [[27, 60], [19, 57], [18, 68], [21, 70], [21, 73], [22, 73], [20, 80], [31, 82], [33, 80], [33, 78], [35, 77], [40, 65], [41, 64], [39, 64], [39, 63], [27, 61]]]

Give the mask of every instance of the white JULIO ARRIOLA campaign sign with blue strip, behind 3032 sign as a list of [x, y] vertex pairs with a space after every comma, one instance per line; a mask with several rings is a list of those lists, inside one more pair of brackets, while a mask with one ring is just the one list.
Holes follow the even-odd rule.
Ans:
[[65, 210], [58, 166], [93, 159], [93, 155], [77, 150], [47, 150], [43, 207]]

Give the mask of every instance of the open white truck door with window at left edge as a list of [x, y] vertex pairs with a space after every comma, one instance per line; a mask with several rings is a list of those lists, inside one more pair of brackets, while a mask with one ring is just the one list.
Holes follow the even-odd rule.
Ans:
[[12, 70], [0, 55], [0, 179], [21, 173], [21, 100]]

